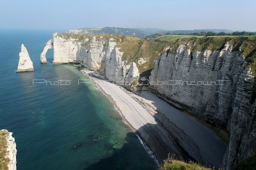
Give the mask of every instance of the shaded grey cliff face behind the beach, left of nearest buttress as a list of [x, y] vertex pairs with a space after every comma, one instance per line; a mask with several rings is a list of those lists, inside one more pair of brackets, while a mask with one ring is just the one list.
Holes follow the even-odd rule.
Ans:
[[177, 54], [163, 54], [156, 60], [150, 88], [209, 122], [226, 126], [237, 80], [246, 69], [244, 58], [231, 51], [226, 44], [221, 51], [191, 52], [184, 42]]

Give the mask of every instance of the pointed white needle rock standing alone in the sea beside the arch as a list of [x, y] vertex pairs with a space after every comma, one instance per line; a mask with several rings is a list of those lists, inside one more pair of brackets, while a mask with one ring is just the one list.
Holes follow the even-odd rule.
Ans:
[[19, 56], [19, 65], [16, 72], [34, 71], [33, 62], [29, 57], [28, 50], [23, 44], [21, 45]]

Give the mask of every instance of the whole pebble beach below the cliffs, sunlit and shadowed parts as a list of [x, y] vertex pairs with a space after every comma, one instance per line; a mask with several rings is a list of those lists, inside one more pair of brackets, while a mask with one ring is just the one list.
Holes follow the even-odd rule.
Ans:
[[157, 166], [169, 153], [204, 166], [221, 166], [225, 153], [221, 141], [214, 139], [217, 134], [195, 118], [173, 110], [173, 106], [152, 92], [134, 94], [94, 71], [80, 71], [114, 104], [122, 121], [143, 141], [141, 144], [150, 157], [152, 154], [152, 158], [156, 157]]

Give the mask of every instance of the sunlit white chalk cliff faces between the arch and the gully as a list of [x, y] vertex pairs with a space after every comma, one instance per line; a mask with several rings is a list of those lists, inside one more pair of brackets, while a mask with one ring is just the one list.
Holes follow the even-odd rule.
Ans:
[[116, 41], [119, 39], [92, 36], [82, 41], [64, 38], [55, 33], [53, 38], [54, 64], [80, 62], [90, 70], [99, 71], [110, 81], [136, 90], [140, 73], [135, 62], [122, 60], [124, 52], [120, 51]]

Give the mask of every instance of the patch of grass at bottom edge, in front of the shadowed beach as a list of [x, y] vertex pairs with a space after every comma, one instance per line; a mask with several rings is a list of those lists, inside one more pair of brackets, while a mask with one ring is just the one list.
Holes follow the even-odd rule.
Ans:
[[200, 166], [195, 162], [184, 162], [173, 157], [164, 160], [164, 164], [157, 170], [211, 170], [210, 168]]

